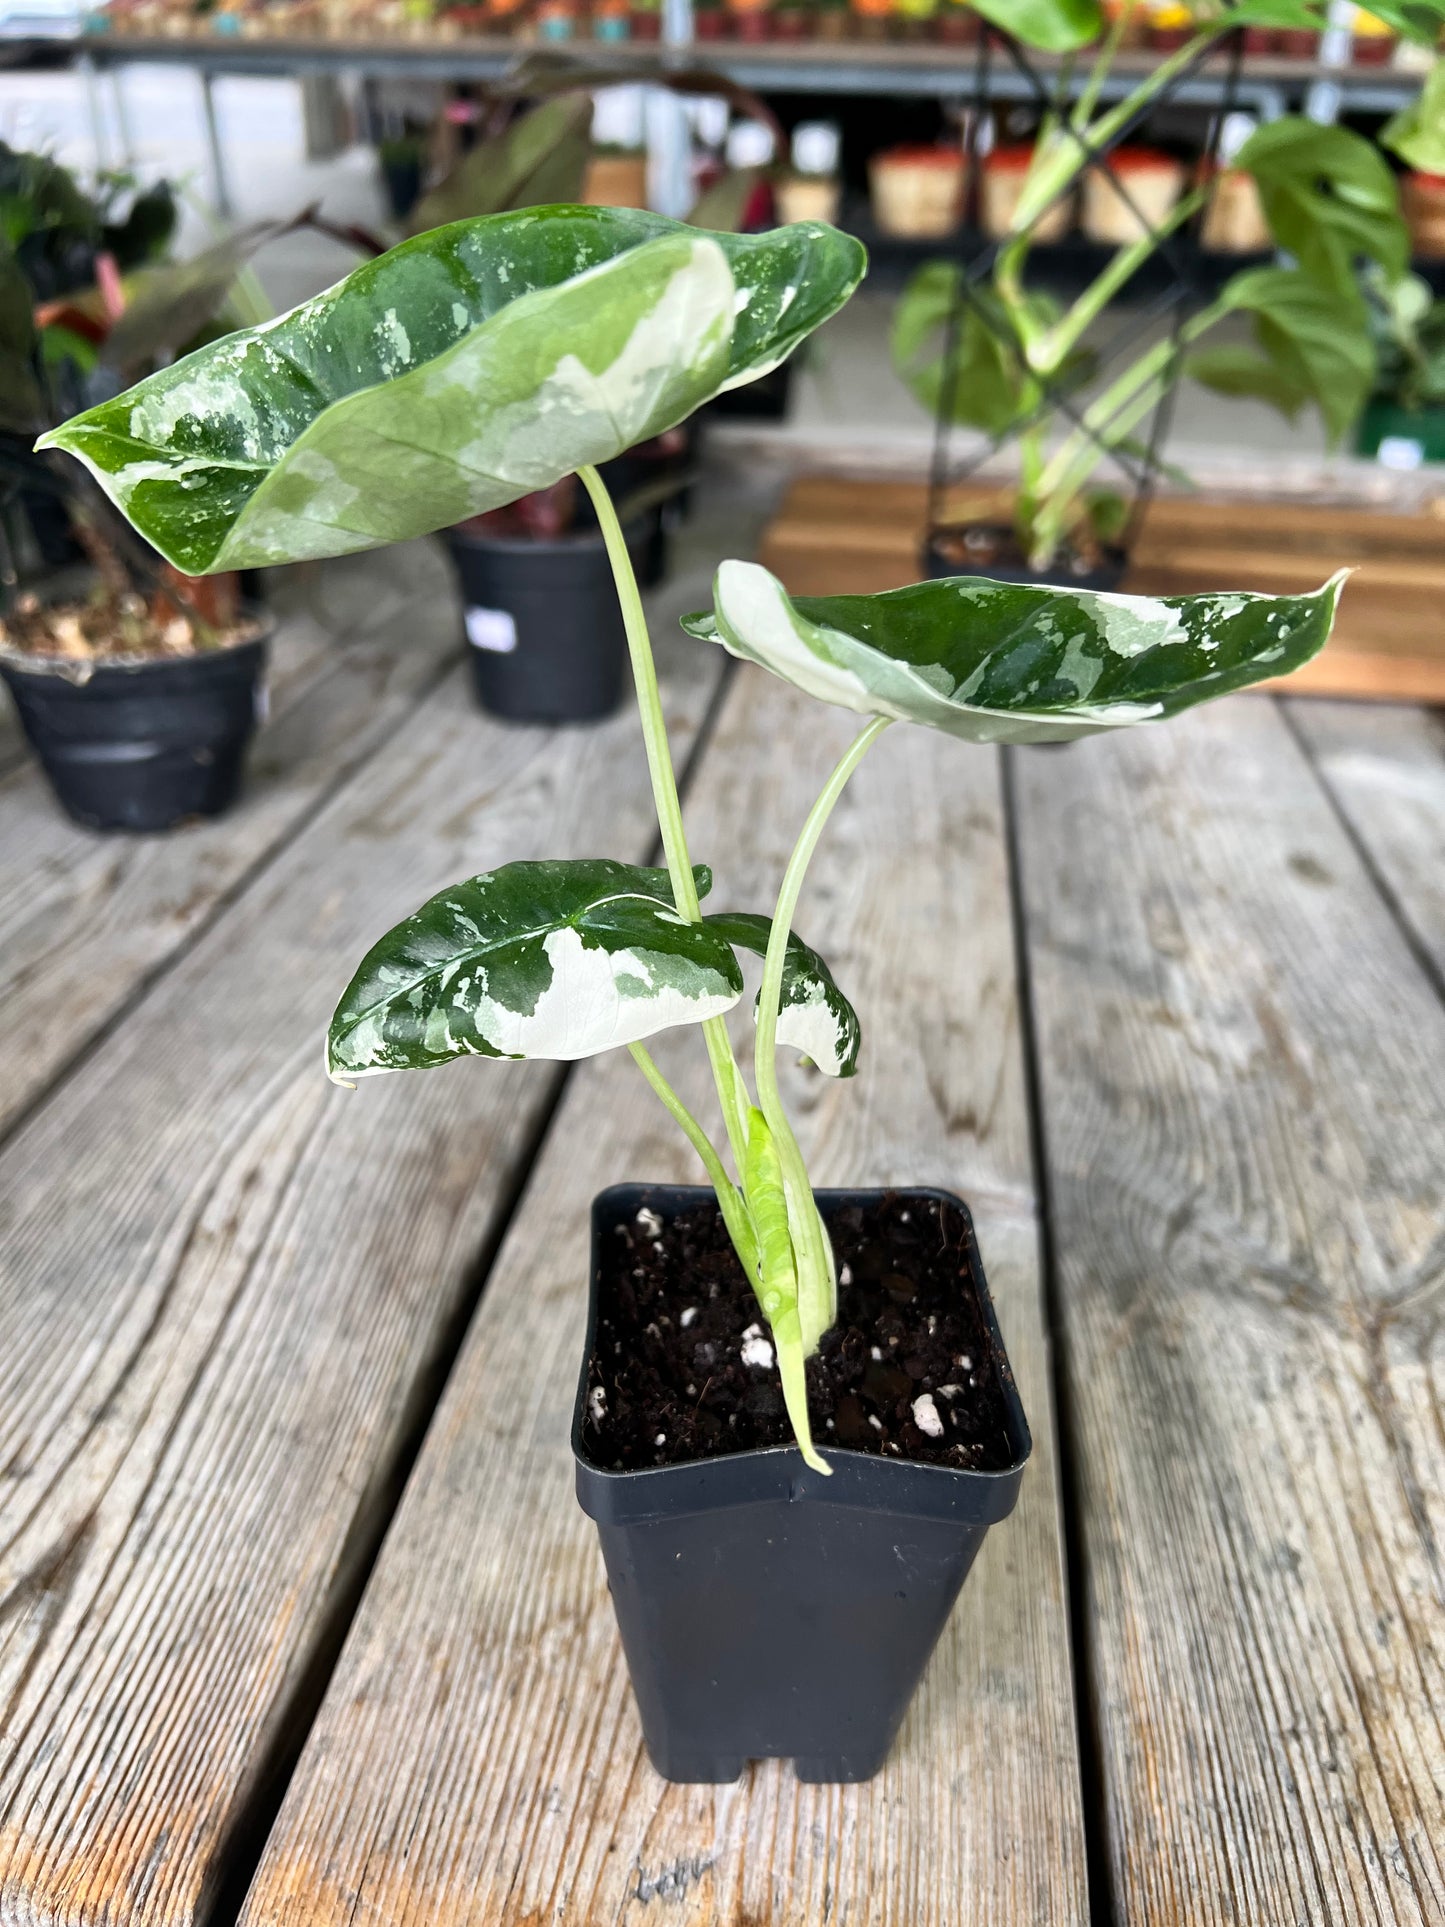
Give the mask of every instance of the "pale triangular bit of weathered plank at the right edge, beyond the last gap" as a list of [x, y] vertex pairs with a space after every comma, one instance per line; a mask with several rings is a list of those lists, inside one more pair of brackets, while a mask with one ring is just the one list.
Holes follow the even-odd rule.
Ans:
[[1360, 703], [1291, 703], [1289, 719], [1445, 983], [1445, 721]]

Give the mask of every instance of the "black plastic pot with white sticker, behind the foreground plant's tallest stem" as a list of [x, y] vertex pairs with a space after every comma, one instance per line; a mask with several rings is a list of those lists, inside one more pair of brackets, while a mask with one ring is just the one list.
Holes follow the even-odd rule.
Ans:
[[[626, 684], [626, 632], [601, 534], [447, 530], [478, 701], [509, 723], [595, 723]], [[632, 567], [640, 532], [628, 536]]]

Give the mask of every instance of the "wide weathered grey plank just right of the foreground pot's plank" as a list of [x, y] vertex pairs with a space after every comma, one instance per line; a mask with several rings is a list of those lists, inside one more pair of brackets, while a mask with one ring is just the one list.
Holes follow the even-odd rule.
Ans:
[[1116, 1914], [1445, 1919], [1445, 1008], [1272, 701], [1017, 761]]

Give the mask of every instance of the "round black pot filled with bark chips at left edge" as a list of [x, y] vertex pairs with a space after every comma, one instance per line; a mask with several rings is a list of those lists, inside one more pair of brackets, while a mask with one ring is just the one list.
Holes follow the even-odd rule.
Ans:
[[60, 805], [96, 831], [166, 831], [218, 817], [241, 788], [270, 638], [204, 655], [106, 663], [0, 657]]

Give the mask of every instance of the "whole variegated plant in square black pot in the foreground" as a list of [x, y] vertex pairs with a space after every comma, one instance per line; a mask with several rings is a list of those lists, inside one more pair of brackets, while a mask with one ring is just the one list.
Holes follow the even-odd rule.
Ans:
[[[422, 534], [570, 474], [593, 501], [665, 867], [522, 861], [443, 890], [362, 960], [328, 1064], [351, 1083], [626, 1046], [699, 1156], [711, 1191], [593, 1204], [574, 1424], [647, 1746], [674, 1779], [767, 1754], [807, 1779], [873, 1773], [1029, 1453], [967, 1208], [934, 1191], [815, 1197], [782, 1106], [778, 1046], [830, 1075], [857, 1064], [857, 1016], [792, 929], [844, 784], [894, 721], [1056, 742], [1279, 676], [1322, 646], [1339, 590], [1131, 601], [956, 580], [794, 603], [767, 570], [722, 563], [692, 634], [865, 721], [771, 917], [705, 915], [711, 875], [688, 848], [597, 462], [792, 353], [861, 272], [861, 247], [825, 225], [738, 237], [568, 206], [460, 222], [46, 437], [187, 570]], [[347, 355], [302, 380], [285, 351], [333, 339]], [[218, 364], [231, 407], [216, 407]], [[231, 453], [258, 409], [283, 428], [237, 488]], [[751, 1089], [724, 1023], [740, 952], [763, 956]], [[724, 1148], [645, 1048], [674, 1025], [703, 1031]]]

